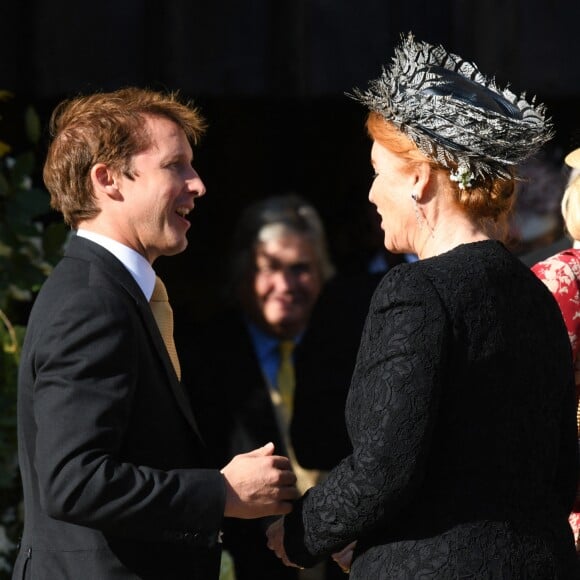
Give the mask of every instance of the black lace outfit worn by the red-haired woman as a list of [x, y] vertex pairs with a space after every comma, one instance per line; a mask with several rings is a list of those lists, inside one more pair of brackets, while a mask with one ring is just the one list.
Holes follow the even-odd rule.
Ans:
[[568, 337], [501, 243], [385, 276], [346, 418], [352, 455], [286, 516], [292, 561], [357, 540], [355, 580], [580, 577]]

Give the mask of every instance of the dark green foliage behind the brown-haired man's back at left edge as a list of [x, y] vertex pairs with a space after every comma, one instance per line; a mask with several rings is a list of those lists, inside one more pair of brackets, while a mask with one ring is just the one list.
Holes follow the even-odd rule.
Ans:
[[[10, 99], [10, 93], [0, 91], [0, 105]], [[64, 224], [50, 219], [48, 193], [34, 186], [39, 181], [38, 115], [28, 107], [22, 117], [16, 128], [29, 146], [13, 152], [3, 131], [8, 119], [0, 113], [0, 580], [10, 578], [22, 529], [16, 390], [26, 312], [66, 237]]]

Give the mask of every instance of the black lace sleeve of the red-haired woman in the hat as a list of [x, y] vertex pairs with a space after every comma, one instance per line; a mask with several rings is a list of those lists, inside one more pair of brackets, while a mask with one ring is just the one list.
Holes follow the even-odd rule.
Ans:
[[413, 271], [392, 270], [371, 303], [347, 401], [352, 455], [286, 516], [297, 564], [388, 521], [424, 476], [450, 330], [435, 289]]

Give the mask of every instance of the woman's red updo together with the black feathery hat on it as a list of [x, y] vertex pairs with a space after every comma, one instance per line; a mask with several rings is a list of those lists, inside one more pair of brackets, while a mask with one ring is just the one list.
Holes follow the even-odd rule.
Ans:
[[373, 139], [446, 171], [461, 208], [494, 228], [513, 205], [515, 168], [553, 136], [535, 99], [499, 88], [474, 63], [412, 34], [391, 66], [350, 96], [371, 112]]

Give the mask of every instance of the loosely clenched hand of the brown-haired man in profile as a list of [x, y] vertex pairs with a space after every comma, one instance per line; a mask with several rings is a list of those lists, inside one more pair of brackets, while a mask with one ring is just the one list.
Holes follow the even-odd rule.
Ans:
[[226, 517], [287, 514], [292, 510], [291, 500], [300, 497], [290, 461], [274, 455], [273, 443], [236, 455], [221, 473], [226, 480]]

